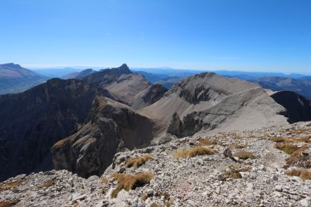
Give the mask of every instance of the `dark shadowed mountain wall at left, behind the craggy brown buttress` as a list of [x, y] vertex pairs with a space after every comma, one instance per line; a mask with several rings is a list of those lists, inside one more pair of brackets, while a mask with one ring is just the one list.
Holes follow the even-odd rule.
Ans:
[[95, 93], [82, 81], [50, 79], [1, 96], [0, 179], [53, 168], [50, 147], [84, 121]]

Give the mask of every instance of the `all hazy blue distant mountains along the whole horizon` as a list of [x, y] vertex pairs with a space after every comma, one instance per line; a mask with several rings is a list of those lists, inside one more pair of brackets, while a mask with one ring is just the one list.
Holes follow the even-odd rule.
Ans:
[[[37, 86], [47, 79], [59, 77], [61, 79], [83, 79], [87, 75], [96, 73], [99, 68], [46, 68], [28, 70], [14, 63], [0, 65], [0, 94], [16, 93]], [[185, 77], [196, 75], [204, 70], [184, 70], [174, 68], [131, 68], [134, 73], [143, 75], [150, 83], [158, 83], [164, 88], [171, 88]], [[290, 90], [311, 99], [311, 76], [301, 74], [283, 74], [281, 72], [243, 72], [229, 70], [215, 70], [218, 75], [235, 77], [258, 83], [263, 88], [279, 91]]]

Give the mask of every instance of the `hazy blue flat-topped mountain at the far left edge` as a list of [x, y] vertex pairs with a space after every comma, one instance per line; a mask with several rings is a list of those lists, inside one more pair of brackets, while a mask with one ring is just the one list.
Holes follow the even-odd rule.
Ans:
[[44, 83], [48, 77], [14, 63], [0, 65], [0, 94], [21, 92]]

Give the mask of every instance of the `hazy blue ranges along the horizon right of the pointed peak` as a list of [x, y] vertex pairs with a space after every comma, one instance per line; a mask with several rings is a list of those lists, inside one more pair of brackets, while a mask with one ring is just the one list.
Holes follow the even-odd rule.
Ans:
[[[149, 71], [149, 72], [147, 72]], [[144, 75], [149, 81], [160, 83], [166, 88], [171, 88], [174, 84], [185, 77], [195, 75], [200, 70], [178, 70], [178, 69], [160, 69], [160, 68], [139, 68], [135, 71]], [[276, 72], [241, 72], [241, 71], [227, 71], [216, 70], [218, 75], [224, 77], [237, 78], [258, 83], [259, 86], [275, 91], [290, 90], [297, 92], [299, 95], [311, 99], [311, 76], [301, 74], [289, 74]], [[167, 76], [167, 77], [165, 77]], [[156, 78], [155, 78], [156, 77]], [[160, 77], [164, 77], [160, 79]]]

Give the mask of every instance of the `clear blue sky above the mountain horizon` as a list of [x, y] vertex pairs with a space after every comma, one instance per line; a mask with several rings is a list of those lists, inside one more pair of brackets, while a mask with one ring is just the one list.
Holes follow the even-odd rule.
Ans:
[[311, 72], [311, 1], [0, 0], [0, 63]]

